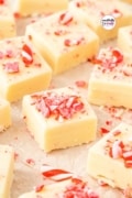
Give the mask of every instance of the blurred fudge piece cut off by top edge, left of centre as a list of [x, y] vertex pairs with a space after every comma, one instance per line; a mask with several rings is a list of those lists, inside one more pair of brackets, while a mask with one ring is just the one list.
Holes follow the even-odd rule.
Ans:
[[14, 0], [12, 4], [13, 11], [20, 15], [31, 15], [65, 10], [68, 7], [68, 0]]

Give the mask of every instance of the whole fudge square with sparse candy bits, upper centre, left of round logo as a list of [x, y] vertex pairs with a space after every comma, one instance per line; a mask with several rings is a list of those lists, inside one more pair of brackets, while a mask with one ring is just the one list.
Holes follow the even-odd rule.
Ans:
[[92, 57], [99, 48], [98, 36], [69, 11], [28, 25], [25, 35], [51, 65], [54, 75]]

